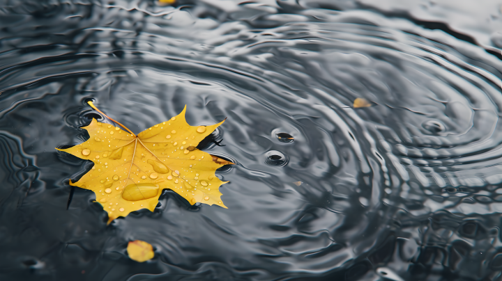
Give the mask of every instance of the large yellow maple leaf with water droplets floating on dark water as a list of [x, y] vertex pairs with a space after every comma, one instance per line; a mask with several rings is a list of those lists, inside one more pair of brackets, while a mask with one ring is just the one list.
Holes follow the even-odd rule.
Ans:
[[[96, 109], [92, 102], [89, 105]], [[70, 185], [94, 191], [96, 201], [108, 212], [108, 223], [131, 211], [153, 211], [165, 188], [190, 204], [227, 208], [218, 189], [226, 182], [215, 177], [215, 170], [233, 163], [196, 148], [225, 120], [211, 126], [190, 126], [185, 111], [186, 106], [179, 115], [137, 136], [112, 118], [127, 131], [93, 119], [82, 127], [89, 133], [89, 140], [61, 150], [94, 163], [77, 182], [70, 180]]]

